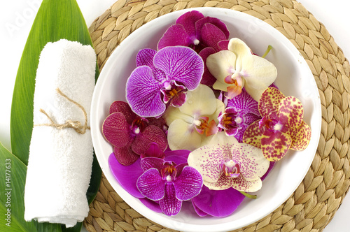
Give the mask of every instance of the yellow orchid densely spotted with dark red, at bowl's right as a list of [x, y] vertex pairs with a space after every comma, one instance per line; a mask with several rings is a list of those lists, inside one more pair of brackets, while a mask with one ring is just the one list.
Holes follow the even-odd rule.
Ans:
[[269, 161], [279, 161], [288, 150], [307, 147], [311, 129], [303, 120], [304, 109], [299, 99], [268, 88], [262, 93], [258, 108], [262, 119], [248, 126], [244, 143], [261, 147]]

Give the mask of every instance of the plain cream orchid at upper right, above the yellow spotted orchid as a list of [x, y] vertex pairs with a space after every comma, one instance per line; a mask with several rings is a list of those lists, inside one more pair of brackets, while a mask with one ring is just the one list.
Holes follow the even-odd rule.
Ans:
[[228, 50], [207, 58], [207, 67], [216, 78], [214, 89], [222, 90], [228, 99], [241, 93], [242, 87], [255, 101], [274, 82], [277, 76], [274, 64], [253, 55], [251, 49], [239, 38], [232, 38]]

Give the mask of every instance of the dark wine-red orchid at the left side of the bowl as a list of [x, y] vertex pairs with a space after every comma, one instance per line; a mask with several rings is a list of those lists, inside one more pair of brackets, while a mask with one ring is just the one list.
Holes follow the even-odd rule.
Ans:
[[158, 144], [163, 151], [167, 148], [164, 119], [139, 117], [124, 101], [113, 102], [109, 111], [102, 132], [113, 145], [113, 153], [120, 164], [133, 164], [146, 153], [151, 143]]

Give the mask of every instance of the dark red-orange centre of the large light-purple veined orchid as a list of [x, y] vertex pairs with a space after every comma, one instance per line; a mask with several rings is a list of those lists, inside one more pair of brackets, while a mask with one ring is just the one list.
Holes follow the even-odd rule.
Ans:
[[160, 91], [163, 94], [164, 103], [170, 103], [171, 106], [180, 107], [186, 101], [186, 87], [178, 85], [174, 80], [163, 82], [163, 88]]

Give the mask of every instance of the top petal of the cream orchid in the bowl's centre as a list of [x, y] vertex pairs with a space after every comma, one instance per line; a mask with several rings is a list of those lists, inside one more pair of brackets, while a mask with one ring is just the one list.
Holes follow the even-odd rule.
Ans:
[[211, 115], [216, 111], [215, 94], [207, 85], [200, 85], [197, 89], [187, 92], [187, 101], [179, 110], [186, 115]]

